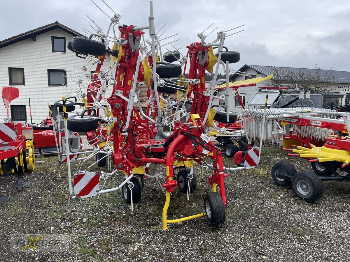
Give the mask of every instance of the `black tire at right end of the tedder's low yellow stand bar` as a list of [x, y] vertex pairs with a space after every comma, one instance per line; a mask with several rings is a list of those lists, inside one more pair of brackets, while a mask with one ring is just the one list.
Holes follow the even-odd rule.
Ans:
[[210, 224], [220, 225], [225, 222], [225, 219], [226, 219], [225, 206], [218, 192], [209, 192], [205, 194], [204, 210]]

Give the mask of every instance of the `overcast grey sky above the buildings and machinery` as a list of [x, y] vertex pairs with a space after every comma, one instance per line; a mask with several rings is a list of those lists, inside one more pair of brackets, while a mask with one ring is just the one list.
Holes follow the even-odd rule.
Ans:
[[[107, 14], [113, 14], [101, 0], [93, 1]], [[123, 16], [121, 23], [148, 24], [149, 1], [105, 1]], [[186, 45], [200, 41], [197, 33], [212, 22], [218, 27], [216, 31], [245, 24], [243, 32], [225, 40], [229, 50], [241, 54], [241, 61], [231, 65], [232, 69], [239, 69], [244, 64], [309, 68], [315, 68], [317, 64], [329, 69], [335, 64], [333, 70], [350, 71], [349, 0], [154, 0], [153, 3], [156, 28], [167, 23], [169, 30], [163, 36], [179, 33], [172, 39], [180, 38], [174, 44], [176, 48], [181, 47], [182, 53], [186, 53]], [[109, 19], [90, 0], [1, 1], [0, 38], [55, 21], [79, 32], [82, 28], [91, 30], [83, 21], [86, 14], [106, 31]], [[207, 42], [216, 38], [215, 32]]]

